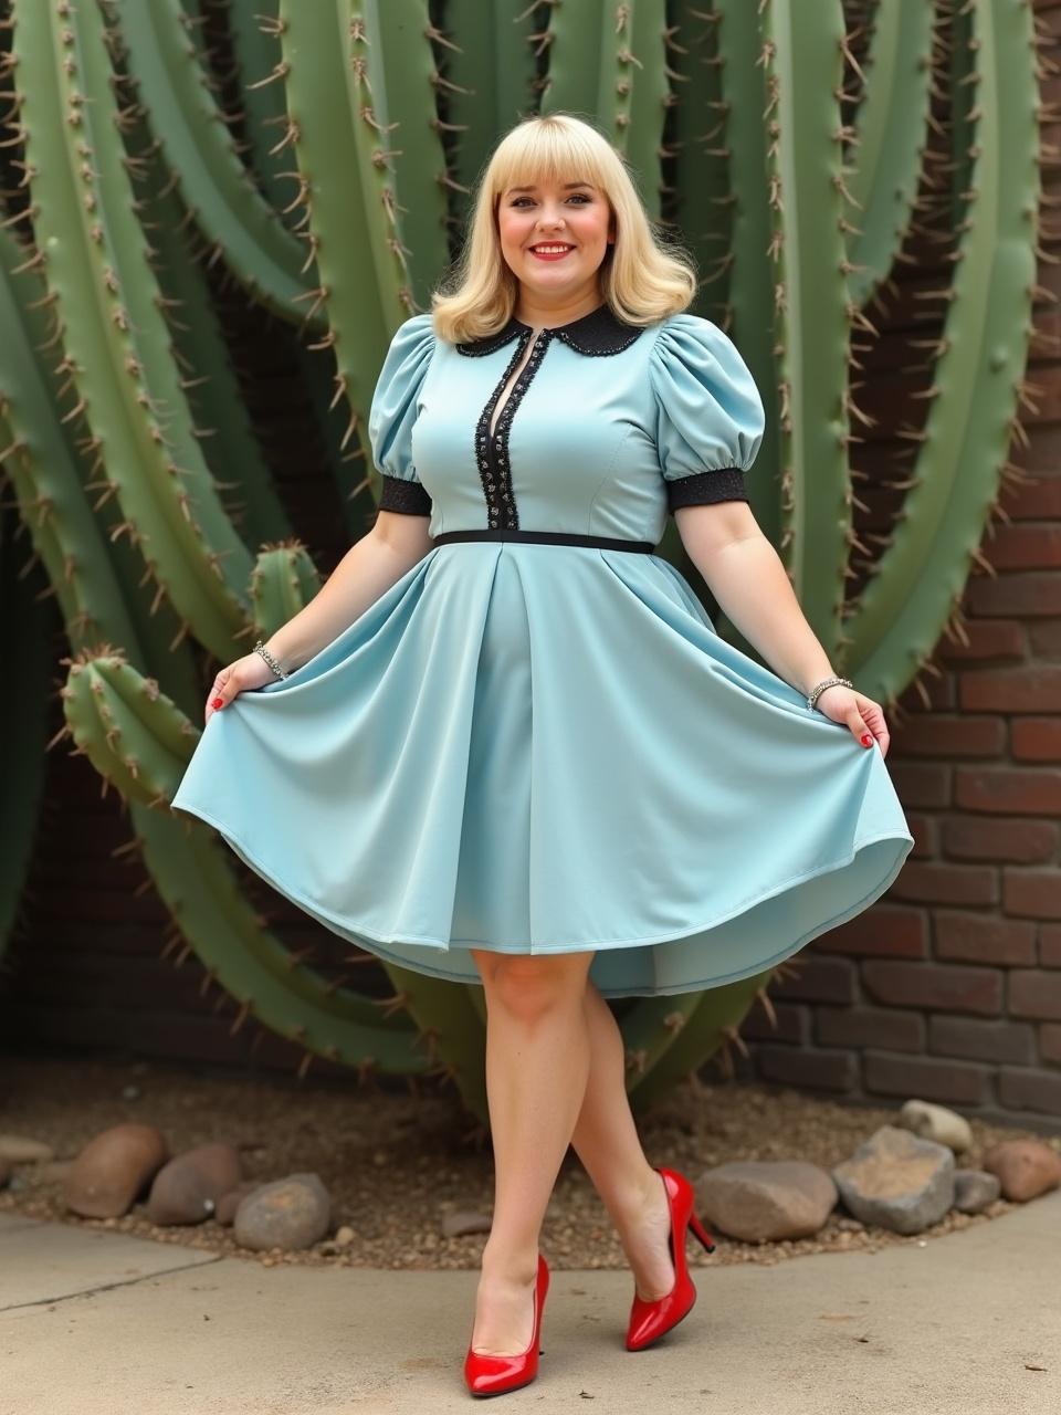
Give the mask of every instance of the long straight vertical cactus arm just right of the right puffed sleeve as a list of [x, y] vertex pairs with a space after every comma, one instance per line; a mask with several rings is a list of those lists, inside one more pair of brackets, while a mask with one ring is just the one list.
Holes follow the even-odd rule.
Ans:
[[764, 0], [767, 184], [774, 215], [782, 533], [804, 614], [835, 654], [852, 539], [850, 303], [843, 239], [840, 0]]

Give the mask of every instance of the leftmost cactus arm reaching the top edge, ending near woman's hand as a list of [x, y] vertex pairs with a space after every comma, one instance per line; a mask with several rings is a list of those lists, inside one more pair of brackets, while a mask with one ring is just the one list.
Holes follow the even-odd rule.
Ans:
[[99, 13], [69, 8], [64, 21], [66, 8], [14, 8], [34, 259], [47, 260], [62, 366], [123, 529], [184, 621], [226, 657], [250, 560], [218, 504], [177, 379], [115, 129]]

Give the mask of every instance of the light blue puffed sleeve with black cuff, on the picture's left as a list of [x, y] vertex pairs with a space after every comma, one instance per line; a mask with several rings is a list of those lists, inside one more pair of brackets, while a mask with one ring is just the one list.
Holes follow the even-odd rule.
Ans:
[[413, 314], [395, 330], [368, 413], [372, 463], [383, 477], [381, 511], [431, 514], [431, 498], [413, 466], [416, 403], [434, 354], [430, 313]]

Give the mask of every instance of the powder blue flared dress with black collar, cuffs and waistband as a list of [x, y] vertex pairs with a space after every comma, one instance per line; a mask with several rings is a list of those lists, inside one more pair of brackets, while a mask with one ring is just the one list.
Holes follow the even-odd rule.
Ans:
[[880, 749], [720, 638], [654, 553], [678, 507], [747, 499], [763, 427], [693, 314], [603, 304], [456, 345], [406, 320], [369, 441], [381, 507], [436, 543], [211, 716], [174, 809], [335, 934], [460, 982], [470, 948], [594, 949], [604, 996], [690, 992], [864, 910], [914, 843]]

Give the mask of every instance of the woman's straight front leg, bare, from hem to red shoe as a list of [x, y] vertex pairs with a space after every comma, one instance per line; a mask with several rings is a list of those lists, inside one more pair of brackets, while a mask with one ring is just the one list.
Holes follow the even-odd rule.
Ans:
[[586, 1092], [584, 995], [593, 952], [471, 954], [487, 993], [494, 1146], [494, 1220], [471, 1344], [511, 1356], [530, 1341], [539, 1232]]

